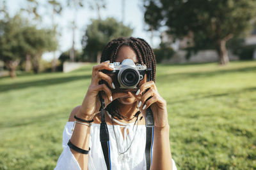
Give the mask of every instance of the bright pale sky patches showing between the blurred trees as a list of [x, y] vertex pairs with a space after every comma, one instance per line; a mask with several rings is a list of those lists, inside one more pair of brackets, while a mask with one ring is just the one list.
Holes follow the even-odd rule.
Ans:
[[[61, 3], [65, 3], [67, 0], [62, 0]], [[93, 3], [93, 0], [90, 0]], [[21, 6], [25, 7], [24, 0], [8, 0], [7, 6], [11, 13], [14, 15]], [[45, 3], [46, 1], [40, 1], [40, 3]], [[114, 17], [116, 20], [122, 20], [122, 0], [106, 0], [107, 5], [106, 9], [102, 9], [101, 16], [102, 19], [107, 17]], [[159, 45], [160, 39], [155, 37], [153, 39], [153, 45], [150, 42], [150, 32], [145, 31], [145, 24], [143, 22], [143, 11], [142, 4], [140, 0], [125, 0], [125, 25], [130, 25], [134, 32], [132, 36], [140, 37], [145, 39], [151, 46], [156, 47]], [[47, 7], [48, 8], [48, 7]], [[42, 19], [42, 27], [51, 26], [51, 6], [49, 6], [48, 11], [40, 10], [39, 13], [44, 13]], [[72, 29], [71, 21], [73, 20], [74, 11], [65, 8], [60, 17], [56, 17], [56, 22], [59, 24], [58, 30], [61, 33], [59, 38], [59, 50], [56, 52], [56, 57], [60, 55], [61, 52], [64, 52], [72, 46]], [[98, 18], [96, 10], [89, 10], [88, 8], [80, 8], [77, 10], [77, 30], [76, 30], [76, 49], [81, 49], [81, 38], [86, 29], [86, 25], [90, 24], [91, 18]], [[45, 53], [43, 58], [46, 60], [51, 60], [53, 54]]]

